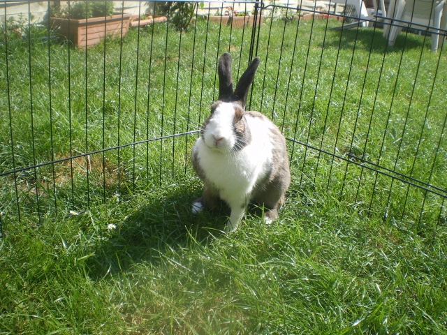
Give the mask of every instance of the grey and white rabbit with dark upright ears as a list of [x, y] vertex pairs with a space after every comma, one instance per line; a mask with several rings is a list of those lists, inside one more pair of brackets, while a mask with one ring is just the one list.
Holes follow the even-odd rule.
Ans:
[[264, 204], [264, 222], [278, 217], [291, 173], [286, 139], [270, 119], [245, 111], [259, 58], [244, 71], [233, 91], [231, 56], [219, 58], [219, 98], [203, 122], [193, 146], [193, 169], [203, 181], [203, 195], [192, 211], [213, 209], [223, 200], [230, 207], [226, 232], [237, 229], [249, 202]]

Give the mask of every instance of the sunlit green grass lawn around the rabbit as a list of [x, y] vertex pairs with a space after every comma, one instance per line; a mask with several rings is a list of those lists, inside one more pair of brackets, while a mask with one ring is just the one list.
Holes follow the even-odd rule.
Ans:
[[[445, 52], [325, 24], [261, 27], [251, 109], [298, 142], [445, 188]], [[0, 173], [198, 129], [217, 56], [230, 50], [237, 78], [250, 33], [161, 24], [87, 57], [10, 40], [8, 87], [1, 44]], [[289, 142], [279, 221], [264, 225], [258, 209], [223, 234], [225, 211], [190, 212], [196, 136], [0, 177], [0, 334], [447, 333], [445, 192]]]

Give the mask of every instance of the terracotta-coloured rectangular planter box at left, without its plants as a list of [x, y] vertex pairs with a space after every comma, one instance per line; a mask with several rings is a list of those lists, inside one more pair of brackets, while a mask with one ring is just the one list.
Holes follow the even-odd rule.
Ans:
[[59, 28], [59, 34], [71, 43], [85, 47], [101, 42], [105, 36], [125, 36], [129, 29], [130, 17], [128, 14], [84, 20], [50, 17], [50, 22], [52, 27]]

